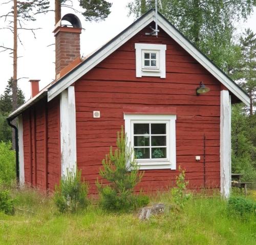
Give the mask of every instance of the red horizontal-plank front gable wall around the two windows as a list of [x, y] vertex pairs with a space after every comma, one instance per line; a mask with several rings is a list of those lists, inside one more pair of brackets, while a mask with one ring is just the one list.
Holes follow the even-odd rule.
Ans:
[[[203, 136], [206, 136], [206, 186], [220, 185], [220, 83], [172, 38], [160, 30], [158, 38], [142, 30], [75, 83], [77, 165], [97, 193], [95, 180], [101, 160], [115, 145], [124, 125], [124, 107], [175, 107], [177, 169], [186, 169], [189, 188], [204, 186]], [[166, 78], [136, 78], [135, 42], [167, 44]], [[196, 95], [203, 81], [210, 92]], [[93, 110], [101, 117], [93, 118]], [[175, 184], [178, 170], [146, 170], [137, 191], [165, 190]], [[102, 180], [105, 182], [105, 180]]]

